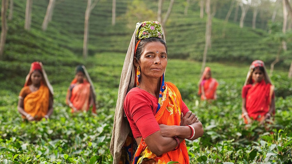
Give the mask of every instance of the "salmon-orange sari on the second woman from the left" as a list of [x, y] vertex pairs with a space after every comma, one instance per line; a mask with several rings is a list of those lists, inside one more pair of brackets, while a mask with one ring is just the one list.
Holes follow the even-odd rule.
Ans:
[[[75, 78], [70, 85], [76, 84], [77, 79]], [[68, 89], [66, 100], [69, 96], [70, 88]], [[89, 98], [90, 98], [90, 83], [87, 80], [83, 80], [83, 83], [77, 84], [73, 87], [71, 92], [70, 101], [77, 110], [88, 111], [89, 109]], [[66, 102], [68, 104], [68, 102]], [[94, 105], [93, 105], [94, 106]], [[71, 113], [73, 113], [73, 109]]]

